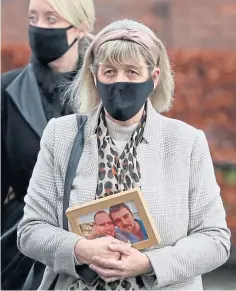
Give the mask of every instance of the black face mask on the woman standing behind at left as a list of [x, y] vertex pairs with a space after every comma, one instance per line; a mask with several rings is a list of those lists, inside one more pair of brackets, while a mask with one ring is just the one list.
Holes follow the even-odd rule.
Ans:
[[62, 57], [77, 41], [68, 45], [67, 28], [42, 28], [29, 26], [29, 44], [33, 55], [42, 63], [48, 64]]

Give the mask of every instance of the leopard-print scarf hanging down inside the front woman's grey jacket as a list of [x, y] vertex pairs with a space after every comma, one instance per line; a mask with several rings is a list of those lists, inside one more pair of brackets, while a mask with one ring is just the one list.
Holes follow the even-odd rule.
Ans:
[[[97, 127], [97, 142], [99, 154], [98, 185], [95, 199], [140, 187], [140, 165], [137, 160], [137, 146], [142, 140], [146, 124], [146, 110], [119, 156], [115, 143], [108, 133], [105, 111], [100, 113]], [[140, 276], [126, 278], [112, 283], [99, 279], [94, 286], [89, 286], [81, 280], [72, 284], [69, 290], [144, 290]]]

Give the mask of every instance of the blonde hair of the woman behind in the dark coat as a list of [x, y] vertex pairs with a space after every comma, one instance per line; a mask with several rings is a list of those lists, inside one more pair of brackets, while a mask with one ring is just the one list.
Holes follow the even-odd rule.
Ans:
[[95, 9], [93, 0], [49, 0], [52, 7], [75, 27], [93, 31]]

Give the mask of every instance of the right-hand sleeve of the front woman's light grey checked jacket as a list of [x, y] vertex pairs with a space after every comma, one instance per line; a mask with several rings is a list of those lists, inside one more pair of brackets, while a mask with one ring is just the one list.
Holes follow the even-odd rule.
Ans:
[[[222, 265], [230, 254], [230, 231], [205, 134], [198, 131], [190, 162], [188, 236], [174, 246], [146, 251], [156, 280], [152, 289], [183, 283]], [[146, 278], [145, 278], [146, 277]]]

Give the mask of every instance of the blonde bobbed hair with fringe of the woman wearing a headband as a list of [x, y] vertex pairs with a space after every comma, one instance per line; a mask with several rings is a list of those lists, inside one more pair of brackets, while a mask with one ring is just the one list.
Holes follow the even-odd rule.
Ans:
[[[149, 33], [159, 52], [158, 62], [155, 63], [151, 55], [139, 44], [125, 40], [108, 41], [102, 44], [97, 55], [94, 56], [94, 43], [103, 34], [120, 29], [131, 29]], [[165, 46], [148, 27], [136, 21], [125, 19], [113, 22], [105, 27], [97, 34], [88, 47], [85, 53], [83, 66], [68, 89], [75, 112], [80, 111], [89, 114], [94, 111], [101, 102], [97, 94], [92, 73], [98, 63], [108, 61], [113, 64], [124, 64], [132, 59], [138, 64], [141, 57], [144, 57], [147, 63], [152, 67], [158, 67], [160, 69], [159, 82], [149, 98], [153, 107], [158, 112], [167, 111], [171, 107], [173, 100], [174, 80]]]

